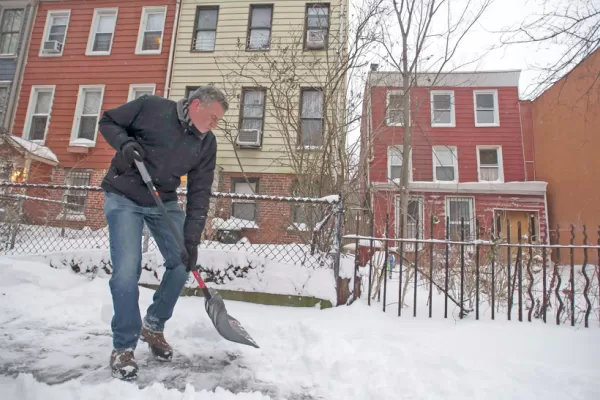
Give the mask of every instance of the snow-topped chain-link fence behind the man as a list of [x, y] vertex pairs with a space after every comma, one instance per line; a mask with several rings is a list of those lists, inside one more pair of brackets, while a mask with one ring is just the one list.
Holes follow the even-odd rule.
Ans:
[[[185, 191], [179, 204], [185, 209]], [[96, 186], [0, 181], [0, 254], [109, 249], [104, 193]], [[339, 266], [338, 196], [297, 198], [213, 193], [200, 248], [240, 251], [275, 262]], [[158, 248], [144, 226], [143, 252]]]

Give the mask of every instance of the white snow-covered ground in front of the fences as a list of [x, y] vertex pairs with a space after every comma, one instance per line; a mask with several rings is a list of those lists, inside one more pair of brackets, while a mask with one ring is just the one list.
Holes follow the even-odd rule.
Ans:
[[[141, 288], [140, 308], [153, 292]], [[202, 298], [166, 328], [171, 364], [136, 351], [110, 377], [108, 280], [0, 258], [2, 399], [598, 399], [600, 329], [472, 318], [398, 318], [359, 300], [318, 310], [226, 302], [261, 346], [222, 339]]]

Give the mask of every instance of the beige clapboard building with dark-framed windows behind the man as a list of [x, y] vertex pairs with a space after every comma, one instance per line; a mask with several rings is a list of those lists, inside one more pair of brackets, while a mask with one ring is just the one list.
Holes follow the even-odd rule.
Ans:
[[[205, 84], [227, 93], [230, 109], [215, 131], [219, 190], [290, 194], [294, 177], [342, 137], [328, 132], [343, 126], [345, 86], [334, 90], [332, 81], [346, 54], [347, 0], [180, 7], [167, 96]], [[253, 212], [237, 216], [257, 219]]]

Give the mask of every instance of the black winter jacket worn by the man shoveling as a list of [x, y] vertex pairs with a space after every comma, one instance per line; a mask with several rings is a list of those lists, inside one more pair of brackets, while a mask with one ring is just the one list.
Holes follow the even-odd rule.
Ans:
[[148, 95], [106, 110], [99, 130], [117, 153], [101, 186], [140, 206], [155, 205], [135, 164], [127, 165], [120, 152], [124, 143], [137, 140], [161, 200], [176, 201], [180, 177], [187, 174], [184, 240], [198, 244], [208, 213], [217, 142], [212, 132], [201, 134], [186, 122], [182, 110], [182, 101]]

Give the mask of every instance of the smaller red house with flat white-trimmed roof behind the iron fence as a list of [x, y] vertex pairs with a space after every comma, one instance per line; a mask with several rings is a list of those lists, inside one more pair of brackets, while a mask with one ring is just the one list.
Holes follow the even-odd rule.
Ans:
[[[523, 234], [529, 224], [533, 239], [546, 229], [546, 183], [526, 174], [531, 160], [531, 138], [524, 136], [518, 95], [518, 71], [448, 73], [437, 79], [420, 74], [411, 89], [410, 121], [412, 154], [402, 155], [402, 77], [394, 72], [371, 71], [365, 92], [361, 129], [361, 185], [364, 200], [375, 213], [375, 231], [384, 232], [390, 215], [390, 234], [399, 232], [400, 176], [410, 168], [409, 222], [406, 235], [429, 237], [430, 217], [439, 221], [434, 236], [460, 239], [460, 220], [465, 219], [465, 238], [496, 232], [511, 241], [517, 238], [517, 222]], [[436, 82], [431, 85], [431, 82]], [[425, 223], [423, 223], [425, 221]], [[417, 225], [418, 223], [418, 225]], [[418, 229], [417, 229], [418, 226]], [[540, 232], [542, 232], [540, 236]]]

